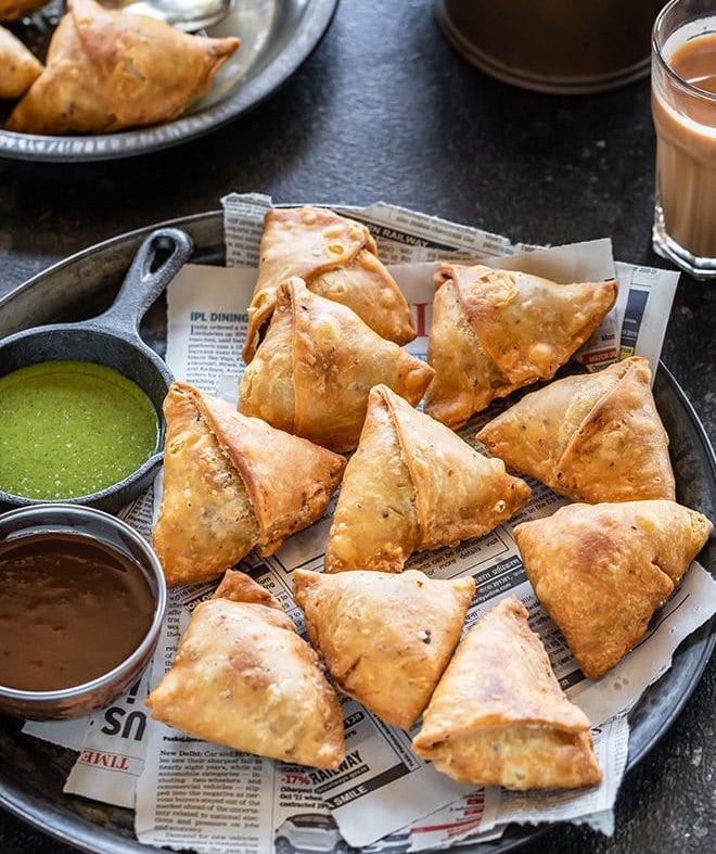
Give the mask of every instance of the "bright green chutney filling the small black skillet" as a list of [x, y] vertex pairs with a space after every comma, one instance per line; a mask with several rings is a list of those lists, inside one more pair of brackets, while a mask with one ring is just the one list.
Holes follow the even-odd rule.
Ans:
[[156, 450], [159, 422], [137, 383], [89, 361], [0, 377], [0, 489], [56, 500], [123, 481]]

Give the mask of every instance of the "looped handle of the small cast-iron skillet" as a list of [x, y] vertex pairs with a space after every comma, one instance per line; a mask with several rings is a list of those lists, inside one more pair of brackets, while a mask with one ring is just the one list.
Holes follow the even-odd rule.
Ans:
[[[152, 303], [179, 272], [194, 248], [192, 239], [178, 228], [153, 231], [141, 244], [114, 303], [93, 318], [94, 327], [124, 334], [139, 334], [139, 323]], [[155, 269], [158, 252], [170, 255]]]

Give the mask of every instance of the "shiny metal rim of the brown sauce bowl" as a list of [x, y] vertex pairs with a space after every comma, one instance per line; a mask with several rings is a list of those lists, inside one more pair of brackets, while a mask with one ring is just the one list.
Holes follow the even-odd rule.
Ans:
[[[151, 568], [156, 582], [156, 591], [152, 590], [154, 596], [154, 614], [152, 617], [152, 623], [150, 624], [150, 627], [146, 629], [144, 637], [142, 638], [139, 646], [133, 650], [133, 652], [131, 652], [111, 671], [102, 674], [102, 676], [98, 676], [97, 678], [82, 683], [81, 685], [74, 685], [69, 688], [60, 688], [50, 691], [21, 690], [18, 688], [9, 688], [0, 684], [0, 708], [2, 706], [3, 700], [13, 701], [15, 703], [28, 703], [30, 705], [41, 705], [48, 702], [59, 703], [72, 701], [84, 697], [85, 694], [93, 693], [98, 689], [107, 687], [120, 676], [131, 672], [151, 652], [153, 647], [156, 645], [159, 629], [162, 628], [162, 623], [164, 622], [168, 594], [166, 578], [164, 571], [162, 570], [159, 559], [156, 557], [154, 549], [146, 541], [146, 539], [118, 517], [106, 513], [104, 510], [99, 510], [95, 507], [86, 507], [84, 505], [72, 505], [66, 502], [46, 502], [40, 505], [31, 505], [29, 507], [20, 507], [14, 510], [9, 510], [5, 513], [1, 513], [0, 524], [7, 521], [12, 521], [17, 517], [33, 517], [40, 515], [41, 513], [50, 513], [50, 515], [54, 515], [60, 512], [69, 514], [71, 517], [75, 517], [81, 521], [92, 521], [99, 519], [101, 522], [107, 523], [110, 526], [114, 526], [120, 533], [125, 534], [135, 543], [135, 545], [139, 547], [139, 549], [144, 553], [146, 563]], [[56, 521], [59, 522], [59, 520]], [[39, 523], [38, 520], [38, 526], [40, 526], [40, 524], [41, 523]], [[46, 520], [44, 524], [51, 525], [52, 522]], [[85, 536], [85, 534], [79, 535]], [[146, 566], [142, 564], [142, 569], [146, 570]]]

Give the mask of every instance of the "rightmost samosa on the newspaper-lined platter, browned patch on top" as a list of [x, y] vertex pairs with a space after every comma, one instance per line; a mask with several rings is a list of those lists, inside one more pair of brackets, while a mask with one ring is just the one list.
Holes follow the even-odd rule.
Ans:
[[514, 536], [539, 601], [596, 679], [643, 637], [711, 530], [701, 513], [653, 500], [568, 505]]

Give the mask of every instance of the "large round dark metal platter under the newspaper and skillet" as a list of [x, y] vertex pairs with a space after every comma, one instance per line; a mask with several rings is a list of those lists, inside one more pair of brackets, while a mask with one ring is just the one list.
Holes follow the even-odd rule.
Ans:
[[[36, 276], [0, 301], [0, 337], [44, 322], [81, 320], [108, 306], [141, 241], [159, 225], [183, 228], [193, 238], [192, 260], [225, 262], [221, 212], [182, 217], [122, 234], [91, 246]], [[166, 311], [157, 301], [142, 322], [144, 340], [165, 349]], [[670, 438], [677, 500], [716, 518], [716, 459], [691, 404], [663, 364], [654, 383], [656, 405]], [[713, 544], [700, 556], [715, 574]], [[714, 620], [681, 643], [670, 670], [641, 697], [629, 714], [629, 757], [634, 767], [676, 719], [695, 688], [716, 645]], [[64, 794], [62, 787], [76, 753], [21, 734], [22, 723], [0, 716], [0, 806], [84, 851], [138, 854], [133, 813]], [[495, 842], [460, 845], [461, 852], [503, 854], [535, 840], [540, 828], [511, 826]]]

